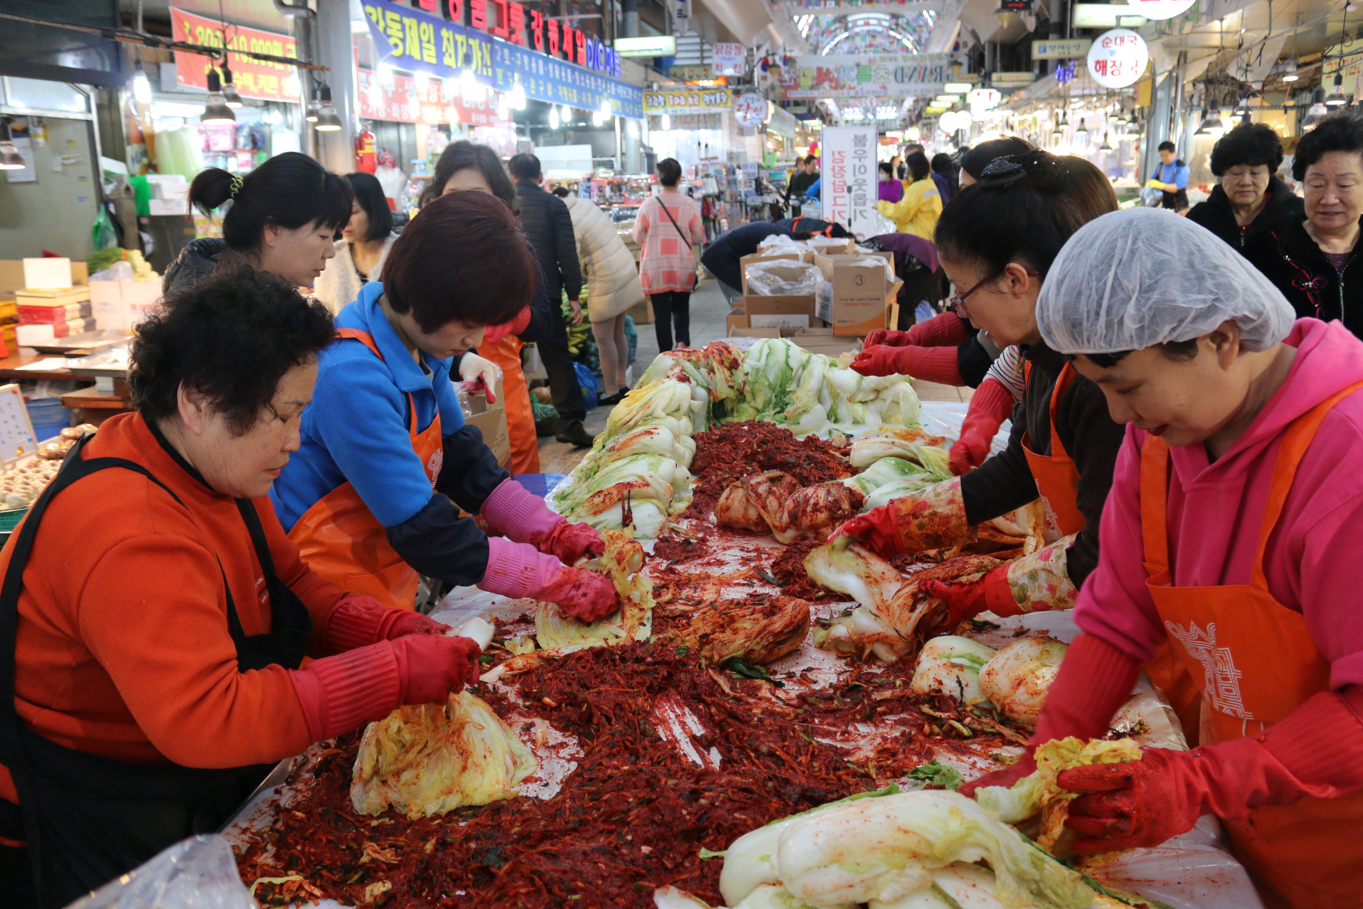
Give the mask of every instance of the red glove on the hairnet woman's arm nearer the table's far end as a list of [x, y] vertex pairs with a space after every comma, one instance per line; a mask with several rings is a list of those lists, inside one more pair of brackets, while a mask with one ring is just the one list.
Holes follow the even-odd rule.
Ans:
[[1126, 703], [1141, 675], [1141, 664], [1101, 638], [1081, 634], [1065, 651], [1060, 672], [1045, 695], [1045, 706], [1028, 751], [1018, 763], [984, 774], [961, 786], [961, 795], [975, 797], [979, 786], [1011, 786], [1036, 770], [1033, 750], [1054, 739], [1077, 736], [1096, 739], [1118, 707]]

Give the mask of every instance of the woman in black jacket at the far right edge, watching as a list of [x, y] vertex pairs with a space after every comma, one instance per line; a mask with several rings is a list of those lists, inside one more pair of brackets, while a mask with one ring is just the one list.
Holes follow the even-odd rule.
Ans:
[[1299, 318], [1338, 319], [1363, 337], [1363, 120], [1337, 113], [1302, 136], [1292, 177], [1306, 189], [1306, 218], [1278, 218], [1244, 253]]

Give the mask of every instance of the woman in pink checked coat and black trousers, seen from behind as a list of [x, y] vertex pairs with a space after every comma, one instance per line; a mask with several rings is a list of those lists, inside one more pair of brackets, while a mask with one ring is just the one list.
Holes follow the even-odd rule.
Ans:
[[682, 165], [675, 158], [658, 162], [662, 192], [639, 206], [634, 241], [642, 247], [639, 279], [653, 301], [653, 328], [658, 350], [691, 346], [691, 290], [695, 289], [692, 244], [705, 243], [701, 207], [677, 191]]

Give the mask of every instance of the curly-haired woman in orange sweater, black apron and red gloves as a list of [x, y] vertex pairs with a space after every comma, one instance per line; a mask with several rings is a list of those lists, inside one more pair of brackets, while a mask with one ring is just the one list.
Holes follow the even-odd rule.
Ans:
[[0, 904], [64, 906], [217, 830], [274, 762], [474, 676], [474, 642], [323, 581], [275, 518], [331, 339], [270, 273], [172, 296], [134, 342], [136, 413], [0, 551]]

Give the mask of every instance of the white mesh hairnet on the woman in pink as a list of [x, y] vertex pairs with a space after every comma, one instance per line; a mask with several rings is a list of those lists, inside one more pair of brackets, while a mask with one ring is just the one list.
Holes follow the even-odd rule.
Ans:
[[1159, 209], [1114, 211], [1079, 228], [1036, 301], [1041, 337], [1060, 353], [1191, 341], [1227, 319], [1246, 348], [1266, 350], [1296, 313], [1224, 240]]

